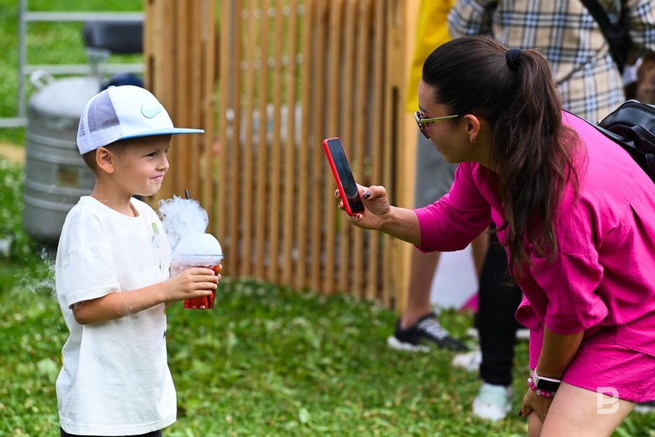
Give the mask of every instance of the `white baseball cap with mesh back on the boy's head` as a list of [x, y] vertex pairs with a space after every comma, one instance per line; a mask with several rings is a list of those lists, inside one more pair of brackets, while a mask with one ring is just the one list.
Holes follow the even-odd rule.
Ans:
[[203, 132], [174, 128], [164, 106], [144, 88], [109, 86], [86, 103], [79, 117], [77, 148], [84, 154], [119, 139]]

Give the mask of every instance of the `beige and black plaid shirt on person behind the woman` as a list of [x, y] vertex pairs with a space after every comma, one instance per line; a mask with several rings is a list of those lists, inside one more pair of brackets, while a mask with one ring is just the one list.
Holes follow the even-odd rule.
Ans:
[[[599, 0], [610, 20], [629, 23], [635, 55], [655, 52], [652, 0]], [[564, 107], [595, 123], [625, 97], [622, 77], [599, 25], [580, 0], [458, 0], [448, 15], [453, 38], [486, 35], [508, 47], [540, 49]]]

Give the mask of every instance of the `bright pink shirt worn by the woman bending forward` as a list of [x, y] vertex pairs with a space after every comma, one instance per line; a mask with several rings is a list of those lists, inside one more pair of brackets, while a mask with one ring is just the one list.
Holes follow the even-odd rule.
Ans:
[[[562, 119], [587, 151], [577, 165], [580, 190], [576, 199], [569, 187], [557, 208], [555, 261], [531, 254], [534, 266], [518, 284], [525, 298], [516, 318], [562, 335], [587, 330], [589, 337], [606, 328], [603, 341], [655, 356], [655, 185], [591, 125], [568, 113]], [[502, 225], [488, 174], [463, 162], [449, 194], [415, 210], [421, 250], [461, 250], [492, 221]], [[505, 233], [498, 238], [502, 243]]]

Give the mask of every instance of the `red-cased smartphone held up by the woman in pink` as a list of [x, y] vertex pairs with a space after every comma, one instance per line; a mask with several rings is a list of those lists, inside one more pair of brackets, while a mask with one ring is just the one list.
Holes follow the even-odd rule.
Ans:
[[346, 151], [344, 151], [344, 144], [338, 137], [326, 138], [323, 140], [323, 148], [327, 161], [330, 162], [330, 168], [334, 175], [334, 181], [337, 182], [339, 187], [339, 195], [341, 200], [344, 201], [344, 207], [348, 215], [357, 215], [364, 212], [364, 204], [362, 197], [360, 197], [360, 190], [357, 190], [357, 183], [353, 176], [353, 170], [350, 169], [348, 158], [346, 158]]

